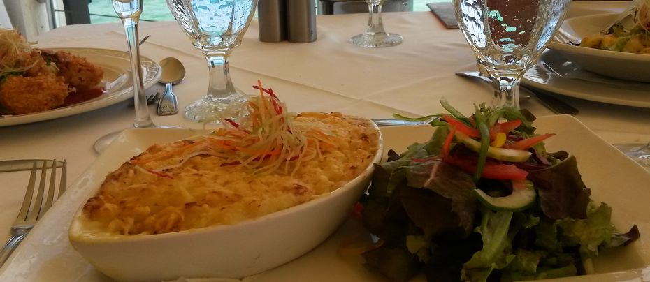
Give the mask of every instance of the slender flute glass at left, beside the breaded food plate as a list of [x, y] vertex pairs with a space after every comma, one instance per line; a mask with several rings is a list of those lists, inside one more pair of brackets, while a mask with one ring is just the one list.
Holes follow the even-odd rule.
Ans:
[[[131, 73], [133, 75], [133, 103], [136, 108], [136, 119], [133, 121], [134, 128], [158, 127], [151, 120], [145, 86], [142, 80], [142, 68], [140, 68], [140, 45], [138, 44], [138, 22], [143, 10], [143, 0], [113, 0], [115, 13], [120, 16], [124, 25], [124, 34], [127, 36], [129, 45], [129, 56], [131, 61]], [[120, 131], [108, 133], [95, 141], [93, 148], [101, 153], [110, 142], [113, 142]]]

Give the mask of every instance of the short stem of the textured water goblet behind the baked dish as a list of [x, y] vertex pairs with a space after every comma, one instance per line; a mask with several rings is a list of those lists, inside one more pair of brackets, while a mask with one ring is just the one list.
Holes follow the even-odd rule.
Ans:
[[229, 94], [236, 93], [228, 68], [230, 53], [231, 51], [205, 53], [205, 58], [208, 59], [208, 68], [210, 68], [208, 96], [212, 98], [224, 98]]

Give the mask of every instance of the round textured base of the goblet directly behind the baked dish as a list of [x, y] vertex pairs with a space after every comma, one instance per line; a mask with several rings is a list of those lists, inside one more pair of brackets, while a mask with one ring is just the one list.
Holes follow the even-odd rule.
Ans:
[[216, 117], [237, 121], [246, 114], [241, 111], [245, 109], [243, 103], [247, 101], [247, 98], [240, 91], [226, 97], [208, 95], [187, 105], [185, 107], [185, 117], [192, 121], [208, 122], [210, 124], [219, 124]]

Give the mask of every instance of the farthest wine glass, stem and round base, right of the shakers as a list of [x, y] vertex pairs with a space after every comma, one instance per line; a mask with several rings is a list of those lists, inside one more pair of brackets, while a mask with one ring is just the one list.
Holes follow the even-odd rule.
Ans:
[[399, 34], [389, 34], [384, 31], [384, 24], [382, 23], [382, 5], [384, 0], [366, 0], [368, 3], [368, 27], [366, 32], [350, 38], [350, 43], [366, 47], [390, 47], [402, 43], [402, 36]]

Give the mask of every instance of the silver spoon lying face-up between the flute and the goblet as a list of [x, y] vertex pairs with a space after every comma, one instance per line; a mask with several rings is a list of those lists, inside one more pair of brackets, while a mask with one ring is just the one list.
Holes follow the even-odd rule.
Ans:
[[156, 112], [159, 116], [168, 116], [178, 113], [178, 103], [171, 88], [173, 84], [178, 84], [185, 78], [185, 67], [173, 57], [162, 59], [160, 67], [163, 71], [158, 82], [165, 84], [165, 93], [158, 100]]

